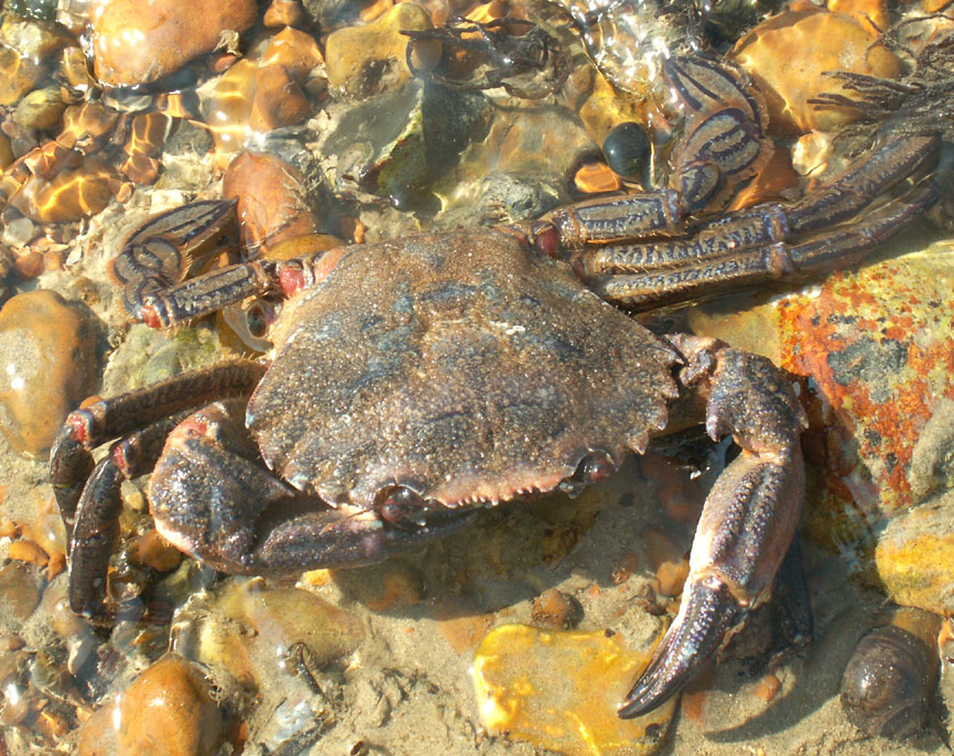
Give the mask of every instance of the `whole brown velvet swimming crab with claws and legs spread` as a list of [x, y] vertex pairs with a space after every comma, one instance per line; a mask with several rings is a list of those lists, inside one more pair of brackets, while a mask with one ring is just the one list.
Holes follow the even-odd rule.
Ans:
[[[804, 495], [805, 417], [767, 359], [655, 335], [621, 309], [859, 260], [934, 204], [941, 140], [888, 134], [801, 201], [696, 223], [765, 160], [765, 109], [722, 65], [673, 57], [664, 74], [689, 112], [668, 188], [192, 280], [192, 250], [229, 203], [137, 230], [115, 262], [137, 320], [172, 327], [252, 295], [289, 299], [264, 361], [69, 415], [51, 476], [72, 531], [74, 611], [104, 609], [119, 484], [151, 468], [156, 528], [183, 551], [228, 573], [294, 572], [382, 560], [477, 508], [574, 492], [703, 422], [741, 452], [704, 504], [679, 615], [620, 715], [674, 694], [771, 593]], [[117, 438], [94, 464], [88, 450]]]

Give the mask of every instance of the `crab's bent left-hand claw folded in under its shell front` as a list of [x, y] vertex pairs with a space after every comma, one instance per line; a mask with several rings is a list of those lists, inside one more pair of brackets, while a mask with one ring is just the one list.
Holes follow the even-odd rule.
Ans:
[[170, 434], [149, 485], [156, 529], [220, 572], [368, 564], [441, 538], [473, 515], [441, 508], [425, 526], [401, 528], [375, 511], [330, 508], [264, 466], [242, 410], [218, 402], [192, 414]]

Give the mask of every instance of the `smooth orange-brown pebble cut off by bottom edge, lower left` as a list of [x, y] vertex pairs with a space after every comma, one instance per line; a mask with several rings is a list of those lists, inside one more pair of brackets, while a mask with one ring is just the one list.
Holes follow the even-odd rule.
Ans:
[[118, 696], [119, 753], [206, 756], [223, 741], [223, 715], [196, 667], [165, 656]]

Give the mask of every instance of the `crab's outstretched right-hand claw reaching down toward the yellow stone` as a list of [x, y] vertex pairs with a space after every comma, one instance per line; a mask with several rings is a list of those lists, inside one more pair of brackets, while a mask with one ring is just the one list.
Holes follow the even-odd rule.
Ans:
[[714, 339], [676, 337], [681, 380], [706, 400], [713, 439], [731, 433], [741, 454], [713, 486], [690, 554], [679, 614], [619, 709], [644, 714], [676, 693], [746, 613], [767, 600], [799, 525], [807, 422], [791, 386], [767, 359]]

